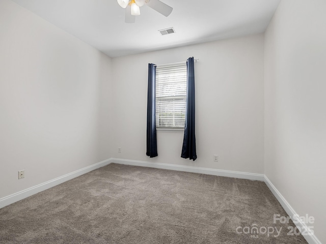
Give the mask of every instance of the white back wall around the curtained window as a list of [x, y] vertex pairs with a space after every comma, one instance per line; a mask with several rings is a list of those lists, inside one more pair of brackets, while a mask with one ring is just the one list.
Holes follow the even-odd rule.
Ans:
[[[162, 38], [168, 38], [162, 37]], [[263, 173], [263, 35], [113, 58], [113, 157]], [[198, 159], [182, 159], [183, 133], [157, 133], [146, 156], [148, 63], [195, 64]], [[122, 153], [118, 153], [118, 147]], [[213, 162], [213, 155], [219, 162]]]

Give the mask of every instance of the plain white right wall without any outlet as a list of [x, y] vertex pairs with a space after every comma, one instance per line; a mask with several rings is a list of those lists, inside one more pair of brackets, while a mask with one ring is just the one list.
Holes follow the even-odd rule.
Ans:
[[321, 243], [326, 243], [325, 13], [324, 0], [282, 1], [265, 33], [265, 175], [297, 214], [316, 219], [312, 226]]

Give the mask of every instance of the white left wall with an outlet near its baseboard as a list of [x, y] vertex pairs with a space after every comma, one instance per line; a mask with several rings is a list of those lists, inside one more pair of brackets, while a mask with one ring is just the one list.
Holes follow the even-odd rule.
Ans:
[[96, 49], [0, 1], [0, 198], [110, 157], [110, 66]]

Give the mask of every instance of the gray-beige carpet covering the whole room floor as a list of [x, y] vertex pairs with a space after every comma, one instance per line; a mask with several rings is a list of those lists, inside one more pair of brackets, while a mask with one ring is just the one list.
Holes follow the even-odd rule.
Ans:
[[274, 214], [261, 181], [110, 164], [0, 209], [0, 243], [307, 243]]

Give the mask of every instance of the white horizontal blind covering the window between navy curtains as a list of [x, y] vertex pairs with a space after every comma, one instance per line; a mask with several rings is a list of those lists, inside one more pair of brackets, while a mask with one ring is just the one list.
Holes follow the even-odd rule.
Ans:
[[156, 67], [156, 128], [184, 129], [186, 63]]

